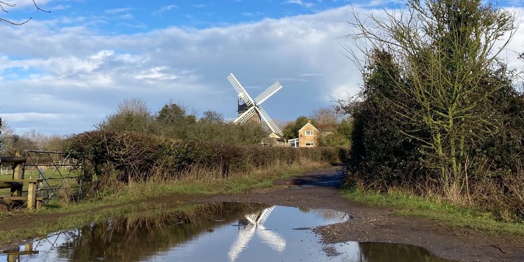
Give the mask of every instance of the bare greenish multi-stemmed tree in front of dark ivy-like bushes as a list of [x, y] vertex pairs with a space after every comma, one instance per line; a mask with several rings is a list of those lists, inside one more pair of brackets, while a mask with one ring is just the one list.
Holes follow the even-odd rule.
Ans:
[[[515, 34], [515, 15], [479, 0], [409, 0], [407, 6], [385, 10], [384, 18], [354, 14], [356, 30], [348, 37], [391, 54], [383, 67], [398, 72], [388, 78], [404, 97], [388, 101], [396, 123], [422, 143], [421, 160], [440, 171], [446, 193], [454, 194], [467, 187], [468, 141], [494, 132], [475, 112], [505, 84], [489, 72], [504, 69], [498, 55]], [[418, 136], [419, 130], [429, 135]]]

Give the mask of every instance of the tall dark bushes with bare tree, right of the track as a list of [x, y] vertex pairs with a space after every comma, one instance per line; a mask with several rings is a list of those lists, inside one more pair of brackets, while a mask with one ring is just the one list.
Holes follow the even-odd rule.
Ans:
[[371, 48], [362, 92], [340, 104], [354, 123], [348, 180], [524, 221], [524, 95], [498, 58], [507, 42], [495, 48], [515, 15], [477, 0], [407, 5], [373, 25], [355, 15], [351, 36]]

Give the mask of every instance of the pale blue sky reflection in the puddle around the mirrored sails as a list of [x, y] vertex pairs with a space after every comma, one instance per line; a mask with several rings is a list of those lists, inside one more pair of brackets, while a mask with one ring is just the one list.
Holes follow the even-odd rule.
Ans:
[[[316, 210], [315, 210], [316, 211]], [[328, 261], [322, 251], [319, 238], [311, 231], [293, 230], [298, 227], [314, 227], [345, 220], [344, 213], [337, 212], [339, 219], [323, 219], [319, 212], [304, 213], [298, 208], [276, 206], [263, 224], [257, 227], [247, 246], [235, 261]], [[249, 226], [248, 226], [249, 227]], [[248, 231], [244, 226], [227, 226], [205, 234], [199, 239], [192, 239], [184, 246], [151, 257], [155, 261], [230, 261], [228, 253], [237, 241], [241, 231]], [[260, 236], [260, 231], [271, 231], [285, 241], [282, 252], [272, 248], [272, 243]], [[278, 244], [277, 244], [278, 245]], [[330, 261], [337, 261], [332, 259]]]

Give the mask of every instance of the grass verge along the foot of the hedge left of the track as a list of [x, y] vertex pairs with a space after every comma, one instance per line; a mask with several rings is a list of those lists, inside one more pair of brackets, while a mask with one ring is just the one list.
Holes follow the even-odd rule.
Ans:
[[[0, 211], [0, 224], [10, 223], [20, 215], [34, 217], [34, 222], [15, 230], [0, 231], [0, 244], [11, 243], [16, 239], [26, 239], [35, 236], [46, 236], [49, 233], [79, 227], [86, 223], [104, 221], [112, 217], [136, 212], [139, 210], [161, 209], [163, 205], [151, 206], [150, 202], [140, 201], [170, 197], [175, 202], [176, 195], [210, 195], [242, 193], [253, 190], [275, 187], [273, 181], [280, 178], [289, 178], [298, 174], [325, 165], [311, 165], [303, 167], [287, 167], [274, 169], [271, 172], [257, 172], [243, 177], [230, 179], [213, 179], [205, 181], [172, 180], [158, 182], [133, 182], [119, 187], [116, 192], [107, 192], [97, 198], [81, 200], [77, 203], [61, 203], [53, 199], [42, 209], [30, 212], [15, 210], [12, 212]], [[133, 202], [129, 204], [129, 202]], [[172, 203], [171, 203], [172, 204]], [[170, 206], [171, 206], [170, 204]], [[174, 204], [181, 204], [180, 202]], [[50, 215], [56, 215], [48, 219]], [[47, 218], [45, 218], [47, 217]]]

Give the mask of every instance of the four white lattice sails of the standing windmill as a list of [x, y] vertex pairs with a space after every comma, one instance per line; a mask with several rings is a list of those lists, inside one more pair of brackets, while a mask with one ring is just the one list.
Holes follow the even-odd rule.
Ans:
[[[257, 97], [255, 97], [255, 100], [253, 100], [251, 96], [249, 96], [249, 94], [246, 92], [242, 84], [238, 82], [238, 80], [235, 78], [233, 74], [230, 74], [227, 77], [227, 80], [231, 82], [233, 88], [235, 88], [236, 92], [238, 93], [238, 98], [242, 100], [245, 105], [245, 112], [239, 115], [238, 118], [236, 118], [236, 120], [234, 121], [234, 123], [243, 124], [249, 121], [249, 119], [251, 119], [255, 114], [258, 114], [264, 119], [264, 121], [273, 133], [278, 134], [280, 136], [284, 135], [282, 131], [280, 131], [280, 128], [278, 128], [277, 124], [275, 124], [275, 122], [271, 120], [266, 111], [264, 111], [264, 108], [260, 106], [260, 104], [266, 101], [269, 98], [269, 96], [275, 94], [278, 90], [282, 88], [282, 85], [278, 81], [269, 86], [269, 88], [266, 89], [266, 91], [259, 94]], [[241, 105], [239, 105], [239, 113], [244, 111], [241, 111], [240, 107]]]

